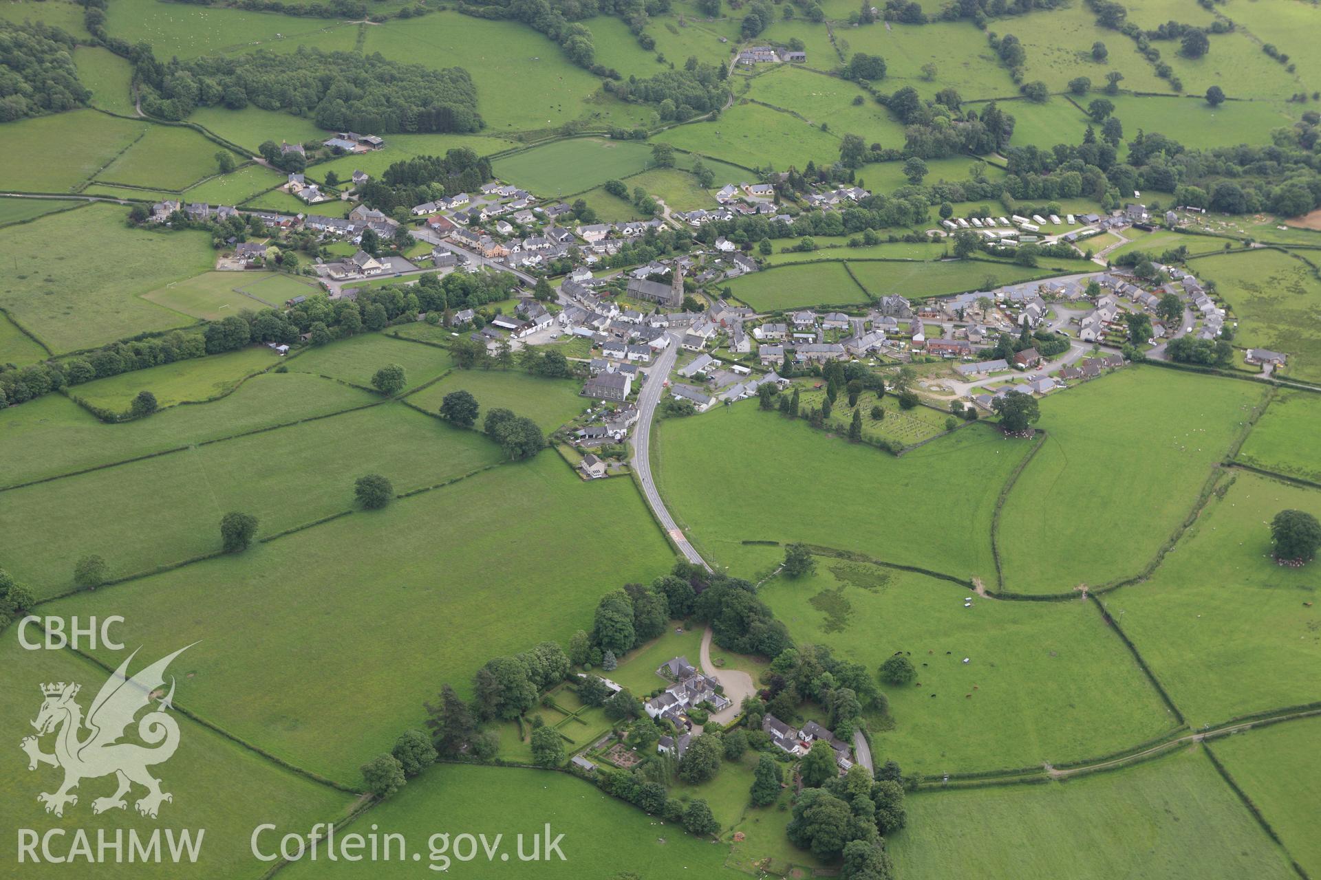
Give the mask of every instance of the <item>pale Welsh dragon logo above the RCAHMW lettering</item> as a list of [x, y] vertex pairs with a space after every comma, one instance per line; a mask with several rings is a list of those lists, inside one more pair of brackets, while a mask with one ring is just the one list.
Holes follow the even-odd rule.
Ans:
[[[165, 685], [165, 668], [189, 648], [192, 645], [180, 648], [129, 678], [128, 664], [137, 654], [135, 650], [102, 685], [86, 718], [82, 706], [74, 699], [79, 685], [58, 682], [41, 686], [45, 701], [37, 719], [32, 722], [37, 735], [24, 738], [20, 745], [28, 753], [29, 770], [37, 769], [38, 764], [65, 770], [65, 781], [55, 792], [37, 796], [37, 801], [46, 805], [46, 813], [63, 815], [66, 805], [78, 803], [78, 796], [71, 790], [82, 780], [112, 773], [118, 788], [110, 797], [95, 798], [91, 802], [92, 813], [127, 809], [124, 796], [133, 784], [147, 789], [147, 794], [135, 802], [143, 815], [155, 819], [161, 802], [174, 800], [161, 790], [161, 781], [147, 768], [164, 764], [178, 748], [178, 723], [166, 714], [172, 708], [174, 679], [170, 678], [169, 693], [161, 695], [161, 690]], [[137, 739], [145, 745], [120, 741], [144, 706], [153, 706], [137, 722]], [[55, 736], [53, 753], [41, 751], [40, 740], [48, 734]]]

